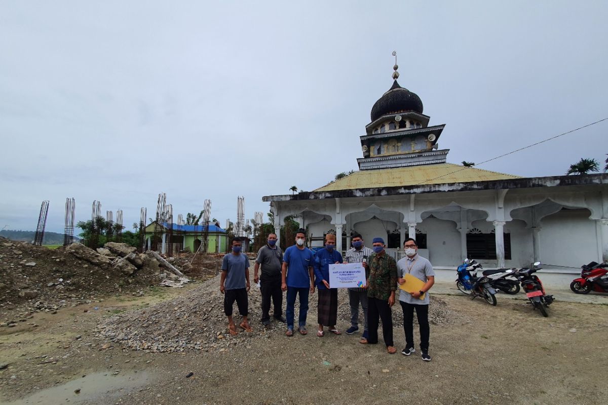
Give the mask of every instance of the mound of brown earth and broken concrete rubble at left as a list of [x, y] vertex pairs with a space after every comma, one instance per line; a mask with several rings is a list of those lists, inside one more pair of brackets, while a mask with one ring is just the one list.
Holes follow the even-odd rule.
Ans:
[[[168, 259], [168, 260], [171, 260]], [[97, 251], [74, 243], [55, 250], [0, 238], [0, 312], [27, 311], [91, 302], [112, 293], [140, 291], [184, 274], [156, 252], [138, 254], [126, 243]]]

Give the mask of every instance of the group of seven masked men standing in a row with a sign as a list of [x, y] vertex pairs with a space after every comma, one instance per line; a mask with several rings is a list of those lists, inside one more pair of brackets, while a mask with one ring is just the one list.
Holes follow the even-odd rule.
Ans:
[[[295, 235], [295, 245], [285, 252], [277, 246], [277, 235], [269, 234], [266, 245], [260, 248], [254, 267], [254, 282], [260, 282], [262, 296], [261, 322], [271, 325], [271, 300], [274, 307], [273, 316], [279, 322], [287, 324], [286, 336], [293, 336], [294, 330], [306, 335], [306, 315], [308, 299], [318, 291], [317, 336], [328, 333], [341, 335], [337, 323], [337, 288], [330, 285], [330, 264], [361, 263], [365, 269], [366, 283], [360, 288], [349, 288], [348, 295], [351, 310], [351, 325], [346, 330], [348, 335], [359, 330], [359, 307], [363, 310], [364, 330], [359, 341], [361, 344], [378, 343], [379, 320], [382, 319], [382, 336], [388, 353], [396, 353], [393, 343], [392, 306], [398, 286], [406, 283], [406, 274], [424, 282], [420, 291], [406, 292], [399, 290], [399, 304], [403, 311], [403, 328], [406, 335], [406, 347], [401, 351], [409, 356], [415, 353], [413, 341], [413, 313], [420, 326], [420, 349], [422, 359], [430, 361], [429, 356], [429, 294], [427, 291], [435, 282], [435, 273], [429, 260], [418, 255], [415, 239], [404, 242], [406, 256], [396, 261], [385, 251], [381, 237], [373, 239], [372, 247], [364, 245], [360, 234], [351, 236], [352, 247], [345, 254], [336, 250], [336, 235], [326, 234], [324, 248], [314, 253], [306, 247], [306, 231], [300, 229]], [[261, 271], [260, 271], [261, 268]], [[224, 293], [224, 312], [228, 317], [228, 329], [231, 335], [237, 335], [237, 328], [232, 318], [232, 307], [237, 301], [238, 311], [243, 317], [240, 327], [252, 332], [247, 320], [249, 291], [249, 260], [241, 253], [241, 240], [232, 240], [232, 252], [224, 256], [220, 291]], [[283, 317], [283, 292], [286, 291], [286, 311]], [[294, 328], [295, 301], [299, 298], [299, 316], [297, 329]]]

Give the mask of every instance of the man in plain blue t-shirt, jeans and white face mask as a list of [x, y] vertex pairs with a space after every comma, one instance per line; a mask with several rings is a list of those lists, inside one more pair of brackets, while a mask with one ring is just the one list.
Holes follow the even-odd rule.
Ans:
[[300, 296], [300, 316], [298, 330], [306, 335], [306, 314], [308, 313], [308, 294], [314, 294], [313, 251], [305, 247], [306, 230], [300, 228], [295, 234], [295, 245], [288, 247], [283, 254], [281, 269], [281, 289], [287, 291], [286, 336], [294, 335], [295, 296]]

